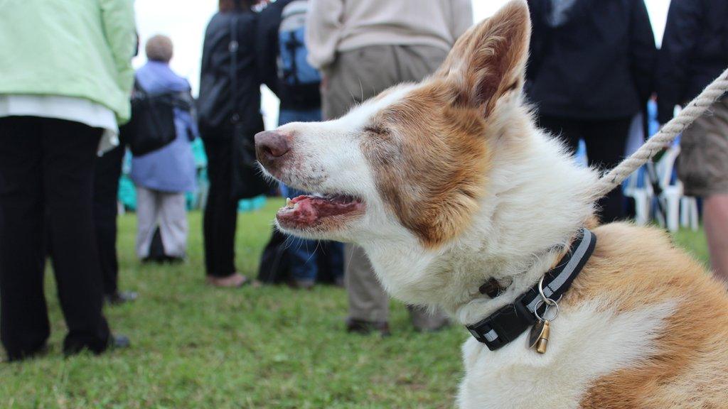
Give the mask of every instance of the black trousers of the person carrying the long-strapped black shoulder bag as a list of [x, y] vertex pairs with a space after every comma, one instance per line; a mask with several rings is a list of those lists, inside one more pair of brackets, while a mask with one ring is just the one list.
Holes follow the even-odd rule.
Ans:
[[235, 272], [237, 200], [232, 197], [232, 140], [205, 140], [207, 194], [202, 230], [207, 275], [228, 277]]

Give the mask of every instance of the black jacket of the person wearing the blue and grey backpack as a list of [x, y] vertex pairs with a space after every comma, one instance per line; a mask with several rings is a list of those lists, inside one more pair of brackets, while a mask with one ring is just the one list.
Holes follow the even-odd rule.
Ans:
[[258, 76], [280, 99], [281, 109], [316, 109], [321, 106], [319, 84], [298, 86], [295, 89], [278, 77], [278, 28], [283, 8], [293, 0], [277, 0], [269, 4], [258, 18], [256, 55]]

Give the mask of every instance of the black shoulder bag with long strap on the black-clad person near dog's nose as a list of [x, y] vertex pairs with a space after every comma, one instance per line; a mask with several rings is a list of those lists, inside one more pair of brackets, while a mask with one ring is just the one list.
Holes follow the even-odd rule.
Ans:
[[254, 119], [254, 125], [247, 127], [246, 122], [240, 117], [237, 89], [237, 26], [238, 15], [232, 17], [230, 23], [230, 87], [232, 95], [232, 197], [233, 199], [248, 199], [259, 196], [269, 191], [270, 186], [263, 178], [258, 168], [256, 159], [256, 147], [253, 138], [257, 132], [264, 129], [263, 120], [258, 117]]

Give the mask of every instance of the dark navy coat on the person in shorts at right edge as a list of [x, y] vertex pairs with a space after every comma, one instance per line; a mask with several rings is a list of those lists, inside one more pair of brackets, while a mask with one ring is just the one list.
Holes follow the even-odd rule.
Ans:
[[660, 50], [660, 122], [728, 68], [728, 0], [672, 0]]

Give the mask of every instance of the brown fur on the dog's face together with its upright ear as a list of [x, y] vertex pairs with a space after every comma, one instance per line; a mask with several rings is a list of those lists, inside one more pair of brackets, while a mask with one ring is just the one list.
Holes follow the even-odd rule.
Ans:
[[[465, 33], [423, 87], [380, 112], [362, 147], [381, 196], [427, 247], [470, 223], [488, 170], [487, 114], [521, 92], [530, 35], [525, 2]], [[491, 132], [492, 133], [492, 132]]]

